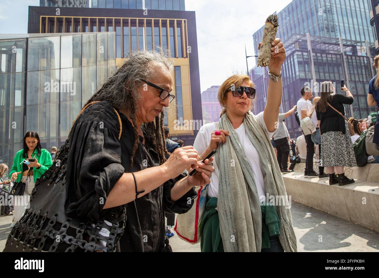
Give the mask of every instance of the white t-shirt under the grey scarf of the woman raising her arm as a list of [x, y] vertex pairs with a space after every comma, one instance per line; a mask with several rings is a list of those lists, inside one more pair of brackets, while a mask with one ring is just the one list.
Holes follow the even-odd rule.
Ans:
[[[256, 117], [257, 117], [258, 122], [262, 124], [263, 128], [268, 133], [269, 138], [271, 138], [274, 132], [268, 132], [266, 123], [263, 120], [263, 112], [260, 112]], [[211, 140], [212, 132], [214, 130], [216, 130], [216, 123], [205, 124], [204, 126], [200, 128], [199, 133], [197, 134], [195, 142], [193, 144], [194, 148], [199, 154], [202, 154], [202, 152], [204, 152], [204, 150], [208, 147], [209, 142]], [[261, 168], [260, 155], [258, 154], [257, 149], [255, 149], [253, 144], [250, 142], [243, 123], [241, 124], [240, 127], [235, 129], [235, 132], [238, 136], [238, 139], [240, 140], [245, 157], [248, 158], [251, 169], [254, 173], [254, 180], [255, 180], [255, 184], [257, 185], [259, 199], [261, 202], [262, 201], [265, 202], [266, 191], [265, 191], [265, 185], [263, 182], [265, 172]], [[228, 136], [226, 140], [230, 140], [228, 139]], [[215, 167], [215, 171], [213, 171], [211, 175], [211, 183], [208, 187], [207, 194], [210, 197], [218, 197], [218, 182], [219, 182], [220, 173], [219, 173], [217, 164], [215, 163], [215, 161], [213, 162], [214, 162], [213, 167]]]

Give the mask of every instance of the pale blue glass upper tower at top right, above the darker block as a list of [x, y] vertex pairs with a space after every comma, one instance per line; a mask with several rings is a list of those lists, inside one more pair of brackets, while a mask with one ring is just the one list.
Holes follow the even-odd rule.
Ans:
[[[293, 0], [277, 13], [277, 37], [283, 42], [292, 34], [306, 34], [375, 42], [376, 32], [370, 25], [370, 0]], [[254, 49], [262, 40], [263, 29], [253, 35]]]

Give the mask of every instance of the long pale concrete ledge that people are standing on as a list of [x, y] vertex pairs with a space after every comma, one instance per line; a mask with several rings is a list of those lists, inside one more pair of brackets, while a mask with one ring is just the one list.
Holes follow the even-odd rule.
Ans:
[[346, 168], [345, 174], [355, 183], [345, 186], [305, 178], [304, 168], [305, 163], [299, 163], [294, 172], [283, 174], [292, 200], [379, 231], [379, 164]]

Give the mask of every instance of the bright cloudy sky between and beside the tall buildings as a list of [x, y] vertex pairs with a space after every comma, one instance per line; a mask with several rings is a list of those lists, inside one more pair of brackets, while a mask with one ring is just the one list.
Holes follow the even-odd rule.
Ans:
[[[245, 44], [247, 55], [257, 53], [252, 34], [291, 1], [186, 0], [186, 10], [196, 12], [201, 91], [221, 85], [233, 70], [246, 71]], [[27, 33], [28, 6], [39, 0], [0, 0], [0, 33]], [[254, 67], [253, 57], [248, 62]]]

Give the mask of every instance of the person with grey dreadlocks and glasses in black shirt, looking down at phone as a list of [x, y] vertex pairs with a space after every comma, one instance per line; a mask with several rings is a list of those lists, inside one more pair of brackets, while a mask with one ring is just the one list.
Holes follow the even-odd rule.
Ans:
[[[125, 207], [121, 252], [170, 251], [164, 210], [187, 212], [188, 200], [196, 196], [193, 186], [208, 184], [214, 169], [212, 159], [197, 162], [192, 146], [164, 157], [163, 107], [174, 99], [172, 69], [163, 53], [131, 52], [86, 105], [99, 102], [88, 106], [71, 130], [66, 213], [93, 223]], [[197, 174], [183, 174], [188, 166]]]

